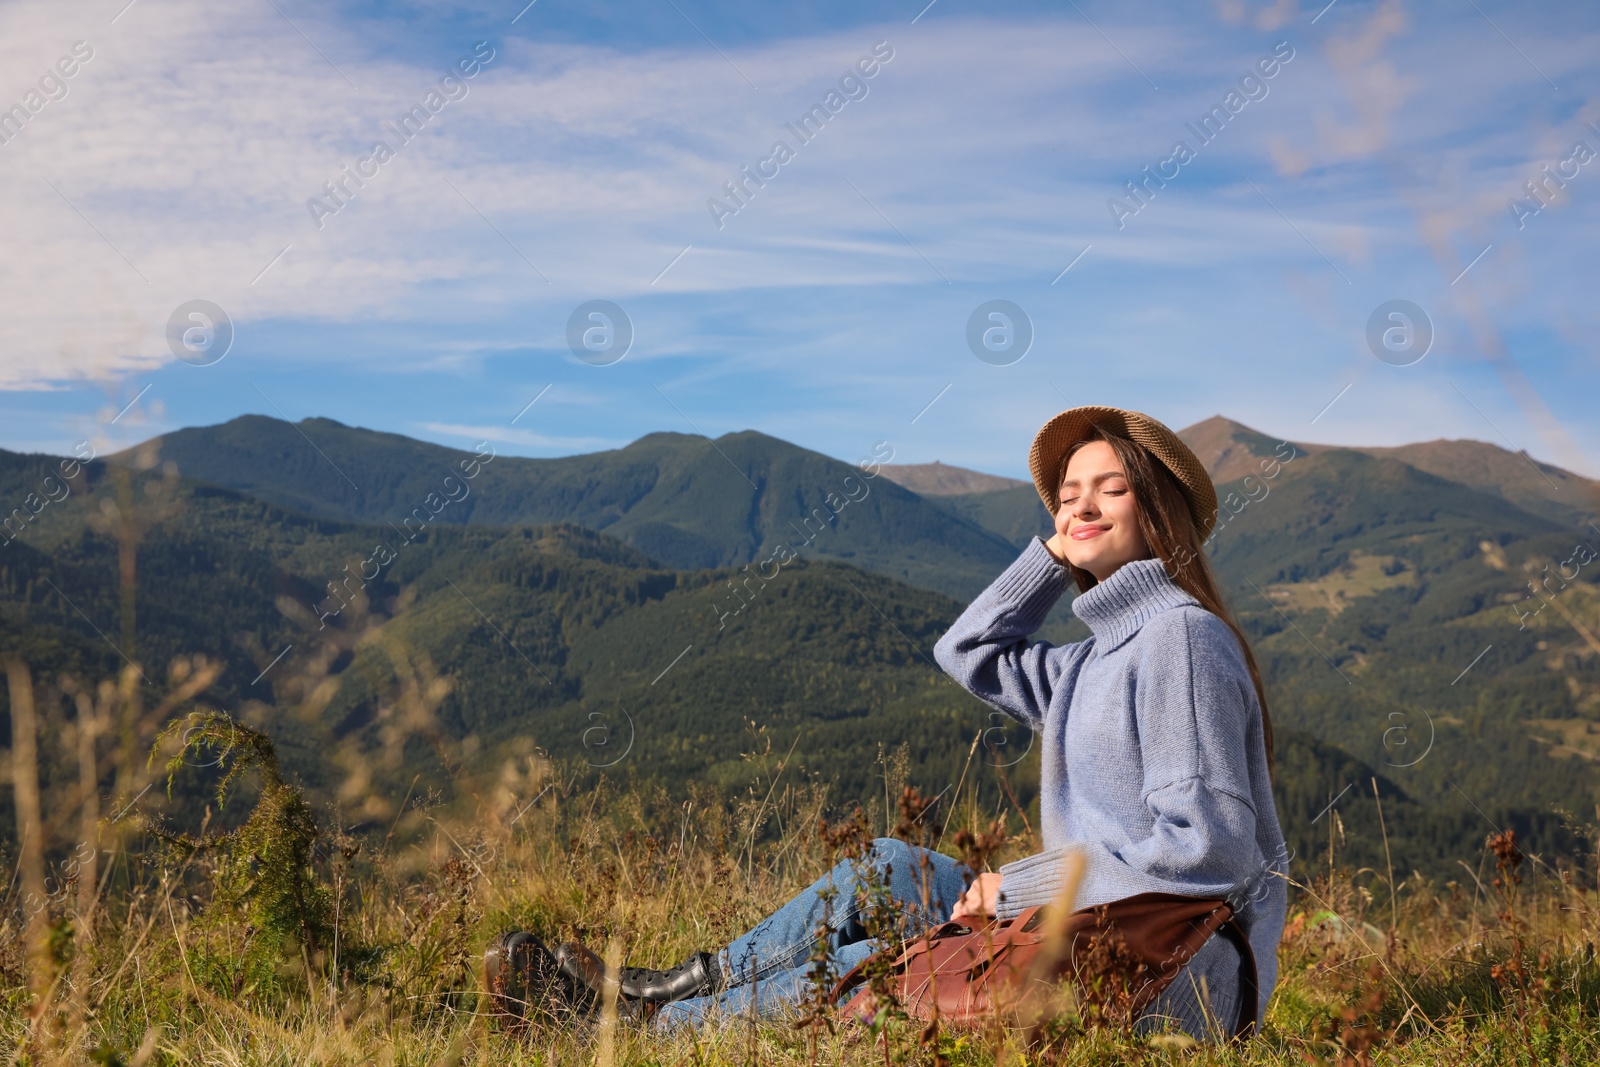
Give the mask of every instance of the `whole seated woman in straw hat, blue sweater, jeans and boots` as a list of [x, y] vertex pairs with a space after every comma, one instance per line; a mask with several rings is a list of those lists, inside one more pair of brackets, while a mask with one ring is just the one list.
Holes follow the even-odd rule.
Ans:
[[[982, 875], [891, 838], [875, 841], [869, 859], [912, 933], [946, 917], [1010, 918], [1051, 902], [1067, 848], [1088, 856], [1077, 907], [1141, 893], [1224, 897], [1248, 934], [1264, 1013], [1277, 981], [1286, 853], [1259, 672], [1202, 552], [1216, 517], [1211, 478], [1176, 434], [1118, 408], [1061, 413], [1034, 438], [1029, 466], [1056, 533], [1035, 537], [934, 654], [974, 696], [1042, 734], [1046, 851]], [[1029, 641], [1069, 579], [1091, 637]], [[830, 885], [837, 894], [824, 909]], [[882, 947], [862, 928], [856, 885], [843, 862], [715, 953], [670, 971], [626, 968], [624, 1014], [659, 1029], [747, 1013], [752, 1000], [760, 1014], [790, 1008], [805, 993], [819, 921], [829, 923], [840, 973]], [[1230, 1033], [1243, 963], [1213, 936], [1141, 1029], [1171, 1019], [1202, 1040]], [[594, 1003], [602, 973], [582, 945], [549, 953], [530, 934], [501, 937], [486, 958], [491, 992], [517, 1014], [518, 1001], [550, 990]]]

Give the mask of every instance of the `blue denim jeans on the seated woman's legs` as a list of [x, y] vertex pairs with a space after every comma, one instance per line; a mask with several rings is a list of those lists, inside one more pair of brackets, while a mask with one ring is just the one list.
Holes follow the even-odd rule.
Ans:
[[[907, 936], [947, 920], [950, 909], [976, 877], [960, 861], [890, 837], [880, 837], [872, 843], [867, 861], [886, 873], [890, 891], [899, 904], [899, 915], [906, 918]], [[923, 881], [928, 886], [926, 909], [922, 904]], [[718, 950], [717, 963], [728, 979], [728, 989], [712, 997], [662, 1005], [651, 1025], [664, 1030], [683, 1024], [698, 1025], [712, 1014], [749, 1013], [752, 998], [755, 1013], [762, 1016], [781, 1014], [798, 1003], [806, 992], [816, 926], [824, 918], [819, 891], [830, 885], [837, 889], [826, 915], [832, 977], [837, 979], [866, 960], [882, 949], [883, 942], [867, 937], [861, 923], [856, 899], [859, 883], [854, 865], [842, 861], [747, 934]]]

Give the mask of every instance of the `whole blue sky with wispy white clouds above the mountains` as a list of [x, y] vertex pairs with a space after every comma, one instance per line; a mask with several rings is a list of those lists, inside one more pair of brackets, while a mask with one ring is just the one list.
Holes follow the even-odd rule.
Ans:
[[0, 3], [0, 446], [1026, 477], [1099, 403], [1600, 477], [1594, 3], [525, 2]]

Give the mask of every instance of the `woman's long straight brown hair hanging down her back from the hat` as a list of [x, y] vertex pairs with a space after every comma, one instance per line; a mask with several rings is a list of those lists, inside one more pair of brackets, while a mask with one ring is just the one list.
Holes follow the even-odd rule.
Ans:
[[[1138, 504], [1139, 533], [1144, 534], [1144, 544], [1150, 550], [1150, 557], [1146, 558], [1160, 560], [1166, 566], [1166, 574], [1178, 587], [1198, 600], [1202, 608], [1222, 619], [1238, 640], [1238, 649], [1245, 654], [1245, 667], [1250, 669], [1250, 681], [1256, 686], [1256, 702], [1261, 704], [1261, 737], [1267, 747], [1267, 774], [1270, 776], [1272, 715], [1267, 712], [1267, 691], [1261, 685], [1261, 669], [1256, 665], [1254, 653], [1250, 651], [1245, 632], [1234, 621], [1234, 613], [1222, 601], [1216, 574], [1205, 557], [1200, 526], [1189, 510], [1189, 501], [1178, 486], [1178, 478], [1166, 469], [1166, 464], [1150, 456], [1144, 446], [1126, 437], [1110, 434], [1099, 426], [1091, 426], [1088, 435], [1061, 458], [1061, 467], [1056, 472], [1056, 486], [1066, 478], [1067, 461], [1090, 442], [1106, 442], [1117, 453], [1117, 459], [1122, 461], [1123, 474], [1128, 475], [1128, 488], [1133, 490], [1133, 499]], [[1072, 571], [1072, 581], [1078, 584], [1080, 593], [1099, 584], [1099, 579], [1078, 566], [1067, 563], [1067, 569]]]

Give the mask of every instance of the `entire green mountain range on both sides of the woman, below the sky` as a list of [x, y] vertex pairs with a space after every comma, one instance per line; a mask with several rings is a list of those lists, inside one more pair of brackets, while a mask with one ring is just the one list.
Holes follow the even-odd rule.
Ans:
[[[1266, 672], [1291, 843], [1339, 822], [1363, 862], [1382, 832], [1397, 864], [1445, 872], [1512, 824], [1576, 854], [1562, 813], [1600, 801], [1600, 486], [1480, 442], [1342, 448], [1221, 416], [1181, 437], [1218, 483], [1211, 561]], [[0, 640], [88, 677], [203, 653], [226, 664], [214, 701], [328, 797], [334, 744], [386, 790], [530, 742], [726, 785], [762, 731], [845, 797], [872, 795], [880, 745], [938, 792], [974, 737], [1003, 742], [989, 781], [1029, 741], [931, 646], [1048, 517], [1029, 483], [890, 459], [750, 430], [523, 459], [251, 416], [85, 462], [34, 514], [61, 461], [0, 453], [0, 501], [26, 512]], [[1067, 601], [1042, 633], [1085, 635]], [[402, 728], [394, 678], [421, 664], [442, 696]], [[1026, 805], [1037, 757], [1010, 776]]]

